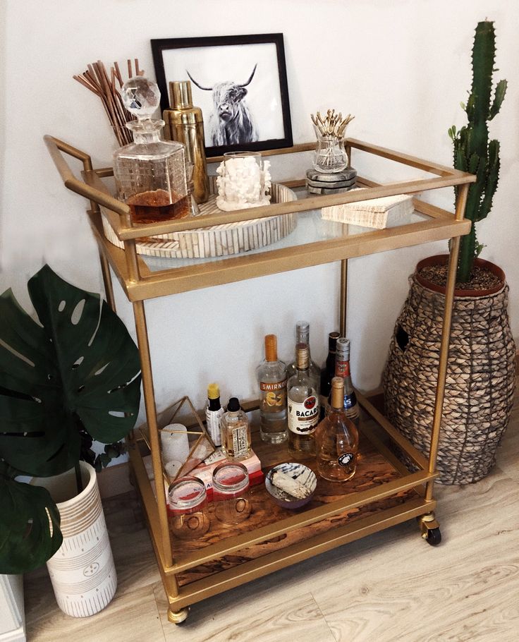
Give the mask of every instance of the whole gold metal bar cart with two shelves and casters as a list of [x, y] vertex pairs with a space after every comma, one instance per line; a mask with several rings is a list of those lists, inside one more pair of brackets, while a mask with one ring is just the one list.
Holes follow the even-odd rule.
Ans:
[[[163, 473], [146, 327], [145, 301], [147, 299], [286, 272], [291, 269], [339, 262], [341, 266], [340, 325], [341, 332], [345, 333], [349, 258], [451, 239], [436, 403], [428, 458], [418, 452], [393, 428], [377, 407], [376, 399], [359, 394], [360, 405], [372, 421], [366, 421], [362, 425], [358, 473], [351, 483], [345, 486], [346, 492], [337, 495], [336, 491], [326, 487], [326, 484], [319, 480], [320, 486], [318, 485], [312, 502], [305, 509], [290, 513], [283, 509], [273, 509], [271, 505], [268, 505], [265, 510], [264, 504], [268, 504], [266, 492], [262, 487], [256, 487], [253, 494], [255, 509], [250, 523], [245, 523], [245, 526], [240, 525], [240, 528], [237, 527], [234, 531], [216, 527], [209, 531], [200, 543], [185, 544], [175, 540], [169, 531], [166, 498], [164, 492], [161, 492], [161, 484], [159, 483], [157, 497], [155, 497], [148, 480], [143, 463], [143, 456], [149, 454], [147, 444], [136, 434], [130, 438], [130, 462], [169, 600], [170, 621], [182, 622], [187, 617], [188, 607], [204, 598], [408, 519], [419, 519], [422, 535], [430, 540], [429, 543], [437, 543], [434, 538], [439, 534], [439, 525], [434, 518], [436, 501], [433, 493], [434, 479], [437, 476], [436, 453], [444, 401], [458, 249], [460, 236], [467, 234], [470, 229], [470, 222], [463, 218], [463, 214], [468, 187], [475, 181], [475, 176], [393, 152], [384, 147], [362, 143], [360, 140], [348, 139], [346, 147], [349, 157], [355, 149], [413, 167], [432, 176], [385, 185], [358, 177], [358, 185], [367, 188], [366, 190], [303, 198], [288, 203], [273, 203], [267, 207], [256, 207], [252, 212], [238, 210], [194, 219], [133, 225], [130, 223], [128, 206], [116, 200], [103, 181], [103, 178], [113, 175], [110, 168], [92, 169], [90, 156], [85, 152], [51, 136], [46, 136], [45, 141], [65, 186], [90, 201], [87, 215], [99, 246], [106, 298], [109, 304], [115, 309], [110, 267], [116, 274], [128, 300], [133, 304], [155, 480], [162, 480]], [[262, 154], [265, 156], [290, 154], [307, 152], [314, 148], [314, 143], [305, 143], [284, 150], [262, 152]], [[63, 154], [82, 162], [81, 179], [75, 177]], [[220, 158], [214, 158], [211, 162], [220, 160]], [[303, 186], [304, 181], [288, 181], [284, 184], [297, 188]], [[143, 236], [157, 236], [157, 234], [243, 222], [248, 219], [291, 212], [319, 217], [319, 210], [324, 206], [401, 193], [415, 194], [455, 185], [458, 186], [458, 200], [454, 214], [415, 198], [416, 215], [413, 219], [388, 229], [364, 231], [362, 234], [348, 234], [348, 231], [343, 231], [324, 240], [309, 238], [308, 243], [300, 245], [267, 248], [257, 253], [220, 260], [199, 260], [190, 262], [189, 265], [181, 264], [181, 267], [171, 267], [171, 261], [166, 261], [163, 269], [150, 269], [147, 262], [136, 252], [136, 239]], [[118, 239], [122, 241], [124, 249], [117, 248], [106, 240], [102, 217], [109, 221]], [[342, 228], [346, 230], [347, 226], [341, 226]], [[243, 405], [247, 411], [257, 408], [255, 401]], [[391, 444], [401, 449], [401, 452], [413, 462], [412, 470], [404, 466], [393, 454]], [[282, 447], [273, 448], [263, 444], [259, 440], [257, 431], [253, 436], [253, 448], [265, 470], [279, 461], [286, 461], [288, 457]]]

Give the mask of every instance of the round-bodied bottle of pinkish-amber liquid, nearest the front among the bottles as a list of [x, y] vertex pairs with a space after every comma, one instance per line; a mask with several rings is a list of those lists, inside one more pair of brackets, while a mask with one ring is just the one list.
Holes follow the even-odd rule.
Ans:
[[344, 409], [344, 380], [331, 380], [329, 412], [315, 430], [317, 472], [330, 481], [346, 481], [357, 468], [358, 431]]

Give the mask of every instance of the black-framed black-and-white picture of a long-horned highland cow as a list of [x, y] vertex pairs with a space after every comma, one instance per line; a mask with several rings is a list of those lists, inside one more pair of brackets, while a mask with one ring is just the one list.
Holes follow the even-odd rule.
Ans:
[[190, 80], [208, 157], [293, 145], [282, 33], [151, 42], [161, 109], [169, 83]]

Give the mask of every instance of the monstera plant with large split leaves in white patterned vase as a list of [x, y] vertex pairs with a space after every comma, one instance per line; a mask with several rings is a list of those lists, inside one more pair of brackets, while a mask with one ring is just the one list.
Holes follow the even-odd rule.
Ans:
[[[95, 468], [135, 425], [138, 349], [105, 301], [47, 265], [28, 290], [39, 322], [0, 296], [0, 574], [47, 562], [59, 606], [83, 617], [116, 590]], [[109, 445], [96, 455], [92, 440]]]

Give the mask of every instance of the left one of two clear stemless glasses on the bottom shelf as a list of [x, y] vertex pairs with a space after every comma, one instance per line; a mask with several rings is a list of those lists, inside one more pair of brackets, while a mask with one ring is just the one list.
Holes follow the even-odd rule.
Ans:
[[195, 540], [209, 530], [207, 494], [197, 477], [181, 477], [168, 490], [170, 526], [173, 535]]

